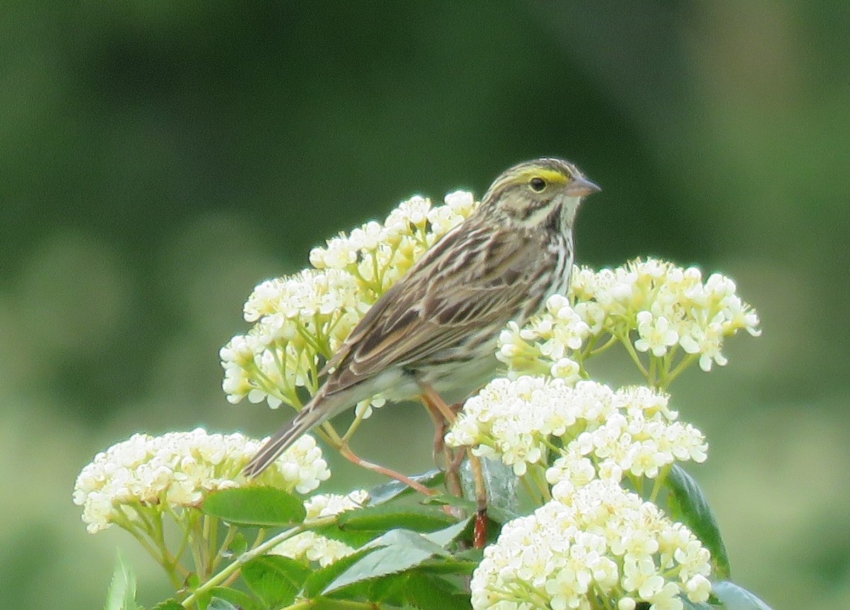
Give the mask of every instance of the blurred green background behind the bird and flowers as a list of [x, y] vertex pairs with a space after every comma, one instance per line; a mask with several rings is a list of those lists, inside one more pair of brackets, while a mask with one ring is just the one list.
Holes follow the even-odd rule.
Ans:
[[[82, 466], [135, 431], [271, 432], [288, 414], [219, 387], [254, 285], [410, 195], [562, 155], [604, 188], [582, 263], [696, 263], [759, 309], [763, 336], [674, 405], [711, 443], [734, 578], [777, 610], [850, 607], [848, 7], [8, 0], [4, 605], [101, 607], [116, 546], [141, 602], [167, 595], [127, 534], [86, 534]], [[378, 411], [356, 445], [425, 470], [431, 432], [382, 443], [411, 421]], [[326, 489], [375, 482], [340, 465]]]

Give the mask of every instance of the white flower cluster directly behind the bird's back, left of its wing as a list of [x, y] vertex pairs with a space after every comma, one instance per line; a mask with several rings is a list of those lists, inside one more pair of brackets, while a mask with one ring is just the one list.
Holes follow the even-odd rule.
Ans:
[[[313, 268], [258, 285], [245, 303], [245, 335], [234, 336], [219, 355], [222, 387], [231, 403], [266, 400], [276, 408], [301, 406], [297, 388], [314, 393], [321, 363], [336, 353], [363, 314], [443, 234], [476, 207], [457, 191], [445, 205], [413, 197], [386, 221], [366, 223], [310, 252]], [[368, 415], [370, 404], [360, 405]]]

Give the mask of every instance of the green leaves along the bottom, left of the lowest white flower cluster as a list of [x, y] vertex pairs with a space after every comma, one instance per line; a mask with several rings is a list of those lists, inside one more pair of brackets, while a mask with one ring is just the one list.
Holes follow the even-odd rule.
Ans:
[[[303, 524], [297, 531], [255, 543], [253, 549], [246, 548], [241, 531], [230, 534], [226, 552], [237, 561], [207, 583], [190, 574], [186, 582], [195, 593], [184, 602], [161, 602], [155, 610], [272, 610], [307, 600], [314, 608], [350, 607], [351, 602], [423, 610], [469, 607], [460, 577], [472, 573], [480, 551], [465, 550], [468, 519], [457, 521], [436, 505], [412, 503], [406, 496], [387, 494], [381, 506]], [[292, 500], [275, 489], [226, 489], [210, 494], [203, 510], [236, 528], [273, 522], [292, 526], [304, 516], [301, 503], [295, 510]], [[306, 560], [265, 552], [298, 532], [310, 531], [356, 543], [359, 550], [319, 569]], [[133, 572], [119, 557], [105, 610], [140, 610], [134, 598]]]

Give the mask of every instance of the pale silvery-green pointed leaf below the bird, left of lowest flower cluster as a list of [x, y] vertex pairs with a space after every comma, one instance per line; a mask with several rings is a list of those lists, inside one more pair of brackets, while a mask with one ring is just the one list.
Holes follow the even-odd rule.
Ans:
[[346, 585], [386, 574], [403, 572], [429, 557], [444, 555], [445, 547], [461, 534], [467, 524], [468, 519], [433, 534], [419, 534], [407, 529], [391, 530], [363, 547], [361, 551], [376, 550], [360, 557], [354, 565], [327, 585], [322, 593], [327, 594]]

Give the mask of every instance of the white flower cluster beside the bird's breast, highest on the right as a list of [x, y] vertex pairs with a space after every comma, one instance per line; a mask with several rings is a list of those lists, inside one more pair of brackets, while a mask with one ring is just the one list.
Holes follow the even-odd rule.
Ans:
[[[638, 352], [666, 357], [681, 347], [699, 354], [700, 368], [723, 366], [723, 339], [744, 329], [752, 336], [758, 314], [743, 302], [733, 280], [655, 258], [598, 272], [574, 268], [568, 301], [554, 296], [523, 328], [509, 325], [497, 358], [519, 372], [546, 372], [575, 380], [578, 364], [604, 336], [632, 342]], [[570, 307], [570, 302], [574, 303]]]

